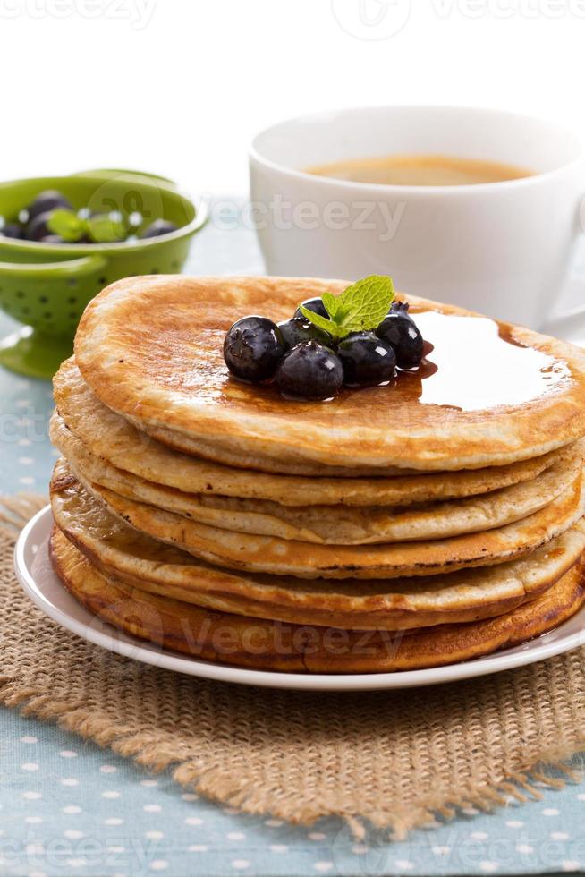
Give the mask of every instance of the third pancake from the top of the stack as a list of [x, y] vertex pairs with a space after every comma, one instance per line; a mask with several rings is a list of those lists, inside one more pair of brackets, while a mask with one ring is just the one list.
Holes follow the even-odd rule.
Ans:
[[74, 473], [123, 497], [175, 512], [220, 529], [307, 542], [363, 545], [445, 539], [510, 524], [544, 508], [568, 490], [583, 463], [580, 443], [572, 453], [532, 481], [487, 496], [394, 507], [309, 506], [291, 508], [261, 499], [207, 496], [145, 481], [104, 463], [54, 415], [50, 437]]

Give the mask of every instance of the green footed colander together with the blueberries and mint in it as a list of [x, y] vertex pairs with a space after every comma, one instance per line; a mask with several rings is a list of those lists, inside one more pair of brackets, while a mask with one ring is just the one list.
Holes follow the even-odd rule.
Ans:
[[122, 277], [179, 273], [206, 218], [172, 181], [136, 171], [0, 183], [0, 308], [24, 324], [0, 363], [51, 378], [89, 301]]

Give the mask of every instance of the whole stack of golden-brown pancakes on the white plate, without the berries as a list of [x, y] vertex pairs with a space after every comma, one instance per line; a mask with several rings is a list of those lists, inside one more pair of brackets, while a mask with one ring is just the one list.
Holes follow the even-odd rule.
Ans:
[[409, 299], [420, 369], [335, 400], [229, 376], [225, 332], [338, 281], [134, 277], [55, 377], [51, 556], [91, 612], [207, 660], [379, 672], [585, 600], [585, 353]]

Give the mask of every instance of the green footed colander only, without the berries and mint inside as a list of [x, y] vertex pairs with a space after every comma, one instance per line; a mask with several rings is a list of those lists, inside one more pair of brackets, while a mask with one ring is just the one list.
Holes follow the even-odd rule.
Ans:
[[0, 363], [33, 378], [51, 378], [72, 353], [88, 302], [106, 285], [140, 274], [177, 274], [191, 238], [206, 220], [203, 204], [165, 177], [126, 170], [0, 183], [0, 216], [12, 219], [45, 189], [57, 189], [75, 209], [140, 214], [144, 224], [168, 219], [171, 234], [123, 243], [34, 243], [0, 235], [0, 308], [24, 328], [0, 341]]

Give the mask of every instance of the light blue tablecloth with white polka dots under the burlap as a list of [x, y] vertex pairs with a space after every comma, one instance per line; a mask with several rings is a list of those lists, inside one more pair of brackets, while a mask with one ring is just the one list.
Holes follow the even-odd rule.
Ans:
[[[196, 239], [194, 274], [258, 274], [242, 217], [211, 223]], [[585, 268], [585, 260], [582, 260]], [[585, 273], [585, 270], [584, 272]], [[14, 324], [0, 316], [0, 337]], [[49, 384], [0, 369], [0, 490], [45, 492], [55, 451], [47, 439]], [[0, 668], [0, 674], [2, 670]], [[585, 756], [573, 760], [585, 769]], [[537, 784], [538, 785], [538, 784]], [[55, 726], [0, 709], [0, 874], [28, 877], [412, 877], [585, 872], [585, 784], [540, 798], [510, 798], [494, 813], [464, 810], [453, 822], [401, 842], [359, 842], [342, 822], [310, 828], [244, 816], [186, 793], [168, 772], [134, 762]]]

